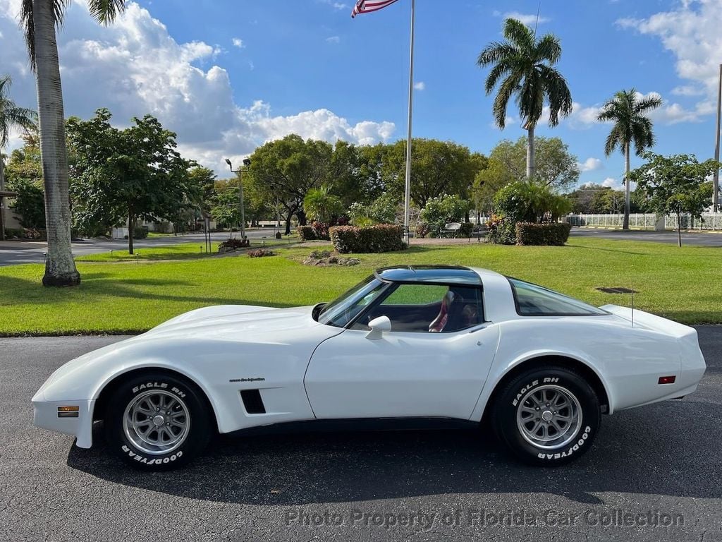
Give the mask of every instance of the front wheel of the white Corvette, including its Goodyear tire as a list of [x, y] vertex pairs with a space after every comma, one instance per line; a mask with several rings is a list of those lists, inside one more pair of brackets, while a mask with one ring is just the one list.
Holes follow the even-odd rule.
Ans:
[[113, 452], [144, 470], [178, 468], [199, 455], [211, 416], [196, 387], [170, 374], [144, 374], [120, 384], [105, 413]]

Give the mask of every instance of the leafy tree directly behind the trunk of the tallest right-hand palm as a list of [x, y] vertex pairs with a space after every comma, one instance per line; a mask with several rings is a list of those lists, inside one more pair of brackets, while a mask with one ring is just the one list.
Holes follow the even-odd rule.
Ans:
[[[520, 137], [516, 142], [502, 139], [492, 149], [490, 160], [496, 160], [505, 168], [503, 177], [521, 181], [525, 178], [527, 138]], [[579, 180], [579, 165], [575, 155], [569, 152], [568, 145], [558, 137], [536, 137], [535, 184], [549, 186], [553, 190], [565, 190]]]

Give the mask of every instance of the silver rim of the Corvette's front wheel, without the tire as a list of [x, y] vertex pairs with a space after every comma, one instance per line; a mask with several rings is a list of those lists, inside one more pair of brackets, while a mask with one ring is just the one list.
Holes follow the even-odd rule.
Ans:
[[173, 452], [191, 429], [191, 416], [180, 397], [162, 390], [144, 392], [126, 407], [123, 431], [131, 444], [149, 455]]

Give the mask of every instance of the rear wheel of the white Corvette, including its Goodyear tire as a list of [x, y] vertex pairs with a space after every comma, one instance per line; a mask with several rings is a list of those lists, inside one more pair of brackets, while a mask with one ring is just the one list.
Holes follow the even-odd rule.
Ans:
[[525, 463], [554, 466], [586, 452], [599, 431], [599, 398], [575, 371], [531, 369], [511, 380], [492, 405], [495, 433]]

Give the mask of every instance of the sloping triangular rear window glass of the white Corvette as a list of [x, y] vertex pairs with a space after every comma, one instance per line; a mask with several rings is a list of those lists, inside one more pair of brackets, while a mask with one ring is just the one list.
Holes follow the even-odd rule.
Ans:
[[521, 316], [597, 316], [609, 314], [596, 306], [523, 280], [507, 277]]

